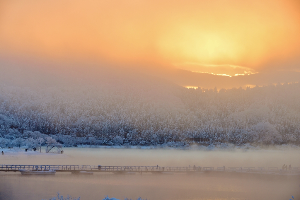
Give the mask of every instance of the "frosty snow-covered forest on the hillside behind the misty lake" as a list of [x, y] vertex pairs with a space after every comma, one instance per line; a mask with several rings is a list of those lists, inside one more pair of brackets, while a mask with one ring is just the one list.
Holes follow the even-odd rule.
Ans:
[[160, 87], [1, 85], [0, 136], [10, 142], [52, 136], [64, 145], [300, 142], [299, 83]]

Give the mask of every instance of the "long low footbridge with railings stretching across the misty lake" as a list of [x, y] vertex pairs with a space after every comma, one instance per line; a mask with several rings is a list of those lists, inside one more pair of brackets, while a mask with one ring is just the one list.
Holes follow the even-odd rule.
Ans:
[[161, 167], [161, 166], [90, 166], [90, 165], [0, 165], [0, 172], [18, 172], [19, 169], [31, 171], [56, 172], [112, 172], [114, 174], [123, 174], [127, 172], [138, 173], [205, 173], [205, 172], [236, 172], [236, 173], [255, 173], [255, 174], [277, 174], [277, 175], [300, 175], [300, 167], [292, 167], [290, 170], [278, 169], [277, 167]]

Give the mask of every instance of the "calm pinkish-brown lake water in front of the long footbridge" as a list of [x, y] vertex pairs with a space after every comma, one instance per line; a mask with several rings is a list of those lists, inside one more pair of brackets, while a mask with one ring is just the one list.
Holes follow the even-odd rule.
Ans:
[[299, 194], [299, 180], [264, 180], [203, 175], [1, 175], [1, 200], [49, 199], [55, 191], [82, 199], [103, 199], [104, 195], [124, 199], [286, 199]]

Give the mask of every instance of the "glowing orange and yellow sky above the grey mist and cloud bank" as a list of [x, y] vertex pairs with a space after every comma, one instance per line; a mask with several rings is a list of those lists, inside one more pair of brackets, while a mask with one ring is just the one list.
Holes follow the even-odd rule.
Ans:
[[299, 35], [296, 0], [0, 1], [1, 59], [93, 60], [164, 68], [166, 76], [179, 68], [254, 77], [300, 71]]

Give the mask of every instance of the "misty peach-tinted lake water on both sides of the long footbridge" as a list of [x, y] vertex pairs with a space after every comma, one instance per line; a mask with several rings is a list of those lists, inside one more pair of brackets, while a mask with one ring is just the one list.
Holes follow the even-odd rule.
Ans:
[[[1, 158], [1, 164], [85, 164], [85, 165], [156, 165], [188, 166], [203, 163], [212, 166], [299, 166], [299, 151], [183, 151], [138, 149], [65, 148], [65, 155], [49, 157], [14, 155]], [[262, 162], [261, 162], [262, 161]], [[278, 163], [280, 162], [280, 163]], [[111, 163], [111, 164], [109, 164]], [[152, 163], [152, 164], [151, 164]], [[200, 164], [202, 163], [202, 164]], [[224, 163], [224, 164], [223, 164]], [[275, 165], [277, 163], [277, 165]], [[269, 164], [269, 165], [267, 165]], [[298, 165], [297, 165], [298, 164]], [[208, 175], [112, 175], [93, 176], [59, 173], [55, 176], [21, 176], [19, 172], [1, 172], [0, 199], [49, 199], [56, 191], [81, 196], [82, 200], [103, 199], [104, 195], [124, 199], [139, 196], [164, 199], [289, 199], [300, 197], [300, 180], [295, 178], [251, 178]]]

